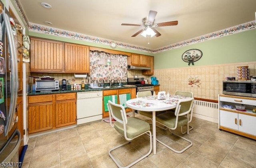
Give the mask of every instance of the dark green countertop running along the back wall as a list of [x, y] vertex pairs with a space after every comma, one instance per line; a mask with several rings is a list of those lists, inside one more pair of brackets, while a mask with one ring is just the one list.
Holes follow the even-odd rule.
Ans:
[[84, 89], [81, 90], [58, 90], [58, 91], [51, 91], [51, 92], [28, 92], [28, 96], [33, 96], [33, 95], [44, 95], [44, 94], [59, 94], [59, 93], [72, 93], [72, 92], [91, 92], [91, 91], [100, 91], [100, 90], [115, 90], [115, 89], [127, 89], [127, 88], [136, 88], [136, 85], [124, 85], [119, 88], [89, 88], [86, 86]]

